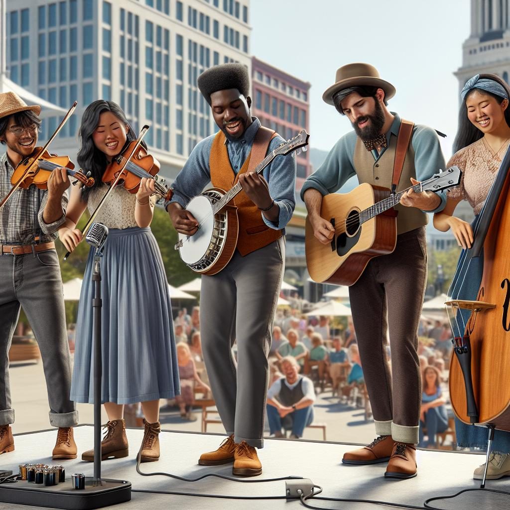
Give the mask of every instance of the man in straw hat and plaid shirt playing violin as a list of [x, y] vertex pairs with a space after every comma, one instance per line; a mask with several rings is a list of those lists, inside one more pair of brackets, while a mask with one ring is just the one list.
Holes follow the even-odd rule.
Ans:
[[[0, 199], [10, 191], [14, 169], [37, 145], [40, 106], [27, 106], [14, 92], [0, 94]], [[62, 276], [54, 240], [65, 220], [66, 170], [56, 170], [48, 189], [18, 188], [0, 208], [0, 453], [14, 450], [8, 353], [20, 307], [41, 351], [49, 401], [49, 423], [58, 427], [54, 459], [76, 458], [72, 426], [78, 413], [69, 400], [71, 363], [67, 344]]]

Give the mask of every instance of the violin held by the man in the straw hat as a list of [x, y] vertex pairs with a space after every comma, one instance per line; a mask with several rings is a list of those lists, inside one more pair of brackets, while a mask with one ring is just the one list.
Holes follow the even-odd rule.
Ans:
[[[81, 182], [83, 186], [90, 188], [94, 185], [94, 179], [90, 177], [90, 172], [85, 175], [80, 170], [74, 170], [74, 164], [69, 156], [55, 156], [49, 154], [47, 150], [41, 153], [41, 150], [42, 147], [36, 147], [33, 154], [37, 154], [37, 156], [29, 156], [16, 166], [11, 176], [12, 185], [15, 185], [25, 175], [29, 167], [31, 169], [20, 182], [19, 188], [28, 189], [29, 186], [34, 184], [41, 190], [47, 190], [49, 176], [54, 170], [61, 170], [62, 168], [66, 168], [67, 175], [75, 177], [77, 182]], [[35, 164], [34, 160], [37, 160]]]

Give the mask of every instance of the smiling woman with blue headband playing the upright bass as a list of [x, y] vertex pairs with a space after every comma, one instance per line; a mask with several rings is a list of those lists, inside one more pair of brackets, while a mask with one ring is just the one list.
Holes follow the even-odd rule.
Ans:
[[[463, 172], [460, 185], [447, 192], [446, 207], [434, 214], [434, 226], [443, 232], [451, 228], [463, 252], [473, 243], [473, 227], [491, 189], [501, 161], [510, 145], [510, 88], [496, 74], [477, 74], [461, 91], [463, 103], [453, 149], [447, 166], [457, 165]], [[453, 216], [457, 203], [467, 200], [475, 214], [472, 224]], [[469, 274], [461, 275], [448, 291], [454, 299], [476, 299], [483, 274], [483, 257], [472, 258]], [[457, 274], [458, 276], [458, 274]], [[462, 283], [459, 283], [462, 282]], [[463, 321], [461, 321], [463, 322]], [[453, 335], [463, 336], [464, 331]], [[455, 419], [457, 444], [465, 448], [487, 449], [487, 429], [466, 425]], [[481, 480], [485, 465], [475, 469], [473, 478]], [[487, 479], [510, 476], [510, 432], [496, 430]]]

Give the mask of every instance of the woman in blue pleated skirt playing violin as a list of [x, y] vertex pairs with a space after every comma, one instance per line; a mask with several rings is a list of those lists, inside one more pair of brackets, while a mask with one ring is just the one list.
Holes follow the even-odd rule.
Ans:
[[[95, 210], [108, 186], [101, 184], [107, 165], [124, 146], [135, 140], [123, 111], [111, 101], [94, 101], [80, 126], [80, 166], [91, 172], [90, 189], [73, 189], [66, 222], [59, 230], [62, 242], [73, 251], [82, 239], [76, 224], [85, 209]], [[145, 433], [142, 462], [160, 456], [159, 399], [179, 394], [168, 284], [156, 239], [150, 232], [154, 213], [154, 180], [142, 179], [131, 194], [116, 186], [96, 216], [109, 228], [103, 263], [101, 402], [108, 414], [108, 431], [101, 443], [103, 459], [128, 454], [124, 404], [141, 402]], [[91, 282], [94, 249], [85, 269], [75, 339], [71, 395], [77, 402], [93, 402]], [[93, 461], [93, 450], [82, 459]]]

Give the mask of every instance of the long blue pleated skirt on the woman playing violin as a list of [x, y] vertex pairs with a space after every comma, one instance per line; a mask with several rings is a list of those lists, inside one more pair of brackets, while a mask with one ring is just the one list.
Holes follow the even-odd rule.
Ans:
[[[91, 248], [76, 327], [71, 400], [94, 402]], [[101, 403], [179, 395], [170, 294], [150, 228], [111, 229], [101, 259]]]

